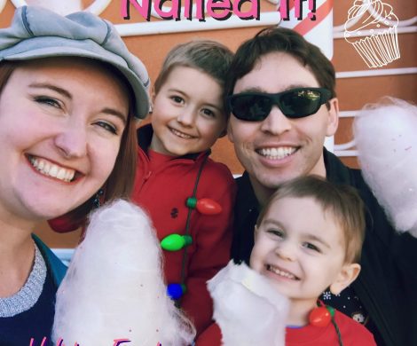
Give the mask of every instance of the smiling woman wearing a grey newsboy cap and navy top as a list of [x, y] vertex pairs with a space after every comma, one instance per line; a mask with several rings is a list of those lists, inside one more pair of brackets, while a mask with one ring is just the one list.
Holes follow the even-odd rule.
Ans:
[[32, 231], [130, 195], [148, 83], [90, 13], [22, 7], [0, 29], [0, 344], [49, 340], [66, 267]]

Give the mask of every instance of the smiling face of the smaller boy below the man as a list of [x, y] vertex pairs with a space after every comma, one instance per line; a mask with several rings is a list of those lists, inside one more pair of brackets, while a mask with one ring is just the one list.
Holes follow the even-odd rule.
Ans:
[[256, 229], [250, 266], [292, 303], [312, 309], [327, 287], [339, 294], [358, 274], [351, 270], [358, 264], [344, 263], [344, 242], [334, 216], [313, 198], [283, 197]]

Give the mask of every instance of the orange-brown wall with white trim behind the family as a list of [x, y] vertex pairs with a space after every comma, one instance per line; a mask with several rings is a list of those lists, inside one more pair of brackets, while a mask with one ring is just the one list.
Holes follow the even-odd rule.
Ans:
[[[4, 28], [10, 24], [12, 13], [14, 12], [12, 2], [10, 0], [4, 1], [4, 9], [0, 12], [0, 28]], [[1, 3], [2, 0], [0, 0], [0, 8]], [[92, 0], [83, 1], [85, 7], [91, 3], [93, 3]], [[413, 19], [413, 22], [408, 33], [398, 35], [401, 58], [379, 69], [415, 68], [417, 67], [417, 2], [409, 0], [385, 0], [384, 3], [388, 3], [393, 7], [399, 20]], [[106, 20], [113, 21], [115, 24], [145, 22], [133, 6], [130, 6], [130, 20], [123, 20], [120, 14], [121, 4], [122, 0], [111, 1], [100, 16]], [[347, 13], [352, 4], [353, 0], [334, 0], [334, 26], [340, 26], [347, 20]], [[272, 11], [275, 11], [275, 6], [261, 0], [261, 23], [262, 12]], [[154, 21], [157, 20], [152, 18], [151, 22]], [[126, 36], [124, 40], [130, 48], [130, 51], [137, 54], [145, 63], [151, 79], [154, 81], [166, 53], [177, 43], [184, 43], [194, 38], [209, 38], [224, 43], [232, 51], [235, 51], [242, 41], [255, 35], [261, 28], [263, 27], [227, 28], [176, 34], [135, 35]], [[333, 62], [336, 72], [369, 70], [365, 62], [358, 56], [357, 51], [343, 38], [334, 39]], [[417, 103], [417, 78], [415, 71], [408, 75], [341, 78], [338, 79], [336, 91], [339, 97], [341, 111], [358, 110], [366, 103], [374, 102], [384, 95], [404, 98]], [[350, 141], [352, 137], [351, 122], [352, 118], [341, 119], [339, 130], [334, 139], [336, 144]], [[213, 158], [216, 161], [226, 163], [233, 173], [242, 172], [240, 163], [235, 159], [232, 145], [228, 142], [227, 138], [222, 138], [216, 143], [213, 148]], [[342, 161], [352, 167], [358, 166], [355, 157], [342, 157]], [[38, 233], [51, 247], [74, 247], [78, 240], [78, 232], [56, 234], [51, 232], [45, 224], [39, 225]]]

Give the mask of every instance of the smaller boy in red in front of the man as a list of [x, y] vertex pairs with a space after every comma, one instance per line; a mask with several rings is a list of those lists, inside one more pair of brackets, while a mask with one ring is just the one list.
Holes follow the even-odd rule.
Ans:
[[[299, 177], [271, 196], [256, 223], [250, 266], [290, 301], [286, 345], [375, 345], [364, 326], [319, 302], [327, 287], [338, 295], [358, 277], [364, 230], [363, 202], [349, 186]], [[197, 345], [220, 340], [211, 326]]]

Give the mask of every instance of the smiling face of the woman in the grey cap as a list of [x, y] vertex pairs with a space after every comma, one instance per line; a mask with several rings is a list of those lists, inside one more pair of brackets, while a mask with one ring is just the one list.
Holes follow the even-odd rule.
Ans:
[[123, 83], [89, 59], [39, 59], [0, 94], [0, 213], [52, 218], [87, 201], [114, 169], [129, 114]]

